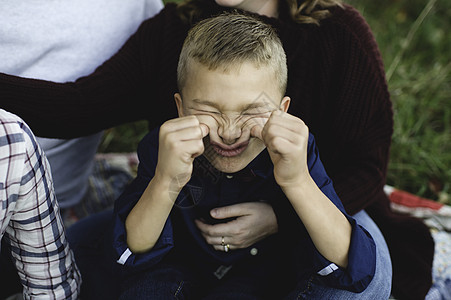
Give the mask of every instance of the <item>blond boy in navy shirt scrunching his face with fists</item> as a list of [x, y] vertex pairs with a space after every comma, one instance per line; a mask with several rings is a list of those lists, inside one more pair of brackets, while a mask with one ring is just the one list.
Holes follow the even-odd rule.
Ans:
[[[309, 296], [313, 284], [369, 284], [374, 242], [345, 214], [306, 125], [287, 113], [286, 81], [270, 26], [225, 14], [191, 29], [179, 118], [143, 139], [138, 177], [116, 202], [118, 263], [141, 271], [124, 299], [278, 299]], [[237, 249], [199, 230], [198, 220], [227, 221], [213, 207], [252, 201], [274, 207], [277, 234]]]

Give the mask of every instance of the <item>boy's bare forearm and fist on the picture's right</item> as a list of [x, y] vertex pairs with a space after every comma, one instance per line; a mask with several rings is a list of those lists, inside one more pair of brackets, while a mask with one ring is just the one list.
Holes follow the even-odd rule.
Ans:
[[308, 128], [300, 120], [275, 111], [253, 135], [267, 146], [274, 177], [307, 229], [315, 247], [328, 260], [347, 267], [352, 226], [318, 188], [307, 166]]

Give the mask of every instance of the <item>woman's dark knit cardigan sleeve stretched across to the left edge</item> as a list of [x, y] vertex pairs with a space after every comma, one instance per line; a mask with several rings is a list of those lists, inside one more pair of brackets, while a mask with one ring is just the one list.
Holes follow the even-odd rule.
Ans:
[[[73, 138], [115, 125], [160, 117], [143, 109], [157, 83], [143, 76], [152, 70], [163, 28], [175, 5], [145, 21], [124, 46], [94, 73], [75, 82], [55, 83], [0, 73], [0, 106], [21, 116], [37, 136]], [[145, 49], [145, 51], [143, 50]], [[145, 52], [145, 53], [144, 53]], [[155, 52], [155, 53], [154, 53]], [[176, 59], [176, 56], [173, 57]]]

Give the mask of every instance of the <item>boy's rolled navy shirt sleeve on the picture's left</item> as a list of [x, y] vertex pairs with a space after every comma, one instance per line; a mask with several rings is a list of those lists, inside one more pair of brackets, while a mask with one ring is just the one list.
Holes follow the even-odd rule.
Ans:
[[153, 131], [140, 142], [138, 146], [139, 166], [136, 179], [115, 202], [114, 206], [114, 240], [113, 247], [117, 255], [117, 263], [131, 267], [130, 271], [141, 270], [157, 264], [174, 246], [172, 223], [166, 220], [163, 231], [152, 250], [135, 254], [127, 245], [125, 220], [139, 198], [147, 188], [155, 174], [158, 158], [158, 145], [153, 143], [158, 134]]

